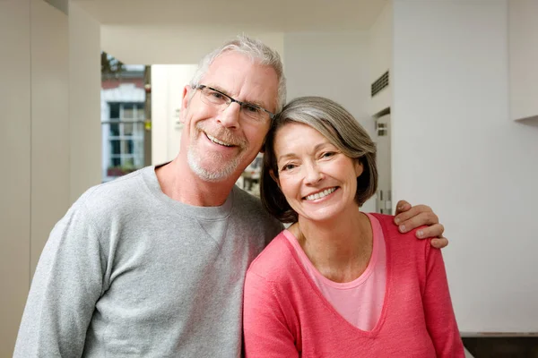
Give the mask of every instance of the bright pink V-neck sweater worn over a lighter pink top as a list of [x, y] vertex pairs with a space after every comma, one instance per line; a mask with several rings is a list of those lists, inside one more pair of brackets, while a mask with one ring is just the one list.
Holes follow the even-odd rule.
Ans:
[[364, 331], [343, 319], [279, 234], [247, 271], [247, 357], [464, 357], [440, 251], [414, 233], [398, 233], [393, 217], [376, 217], [386, 241], [376, 327]]

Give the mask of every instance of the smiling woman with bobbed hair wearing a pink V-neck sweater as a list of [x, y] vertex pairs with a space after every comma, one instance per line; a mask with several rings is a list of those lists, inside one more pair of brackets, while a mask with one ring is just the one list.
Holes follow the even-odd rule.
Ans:
[[376, 146], [343, 107], [284, 107], [261, 185], [292, 225], [247, 271], [247, 357], [464, 357], [441, 252], [360, 212], [377, 188]]

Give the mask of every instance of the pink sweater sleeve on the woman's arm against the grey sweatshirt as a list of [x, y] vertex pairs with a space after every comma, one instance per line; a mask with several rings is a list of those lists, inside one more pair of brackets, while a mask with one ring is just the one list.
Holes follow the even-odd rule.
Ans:
[[246, 357], [299, 357], [295, 339], [273, 283], [247, 272], [243, 304]]

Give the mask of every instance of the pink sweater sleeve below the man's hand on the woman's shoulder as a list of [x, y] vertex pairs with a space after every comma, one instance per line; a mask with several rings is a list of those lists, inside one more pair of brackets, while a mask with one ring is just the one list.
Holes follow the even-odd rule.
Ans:
[[448, 291], [441, 251], [426, 245], [426, 286], [423, 294], [426, 326], [438, 357], [464, 357], [464, 345]]

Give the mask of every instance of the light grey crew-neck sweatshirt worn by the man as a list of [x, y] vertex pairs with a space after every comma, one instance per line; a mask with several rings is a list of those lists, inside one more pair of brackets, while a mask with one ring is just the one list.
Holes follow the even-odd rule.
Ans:
[[153, 166], [95, 186], [48, 238], [14, 357], [237, 357], [245, 272], [281, 230], [237, 187], [172, 200]]

